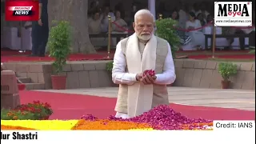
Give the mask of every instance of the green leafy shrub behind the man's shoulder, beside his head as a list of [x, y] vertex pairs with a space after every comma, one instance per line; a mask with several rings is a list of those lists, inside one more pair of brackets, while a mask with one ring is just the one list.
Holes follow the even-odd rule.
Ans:
[[173, 58], [175, 58], [175, 53], [180, 45], [180, 40], [174, 29], [174, 26], [177, 26], [177, 22], [171, 18], [164, 18], [158, 19], [155, 23], [157, 26], [156, 35], [170, 43]]

